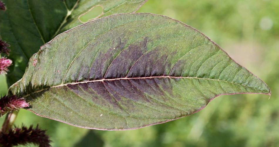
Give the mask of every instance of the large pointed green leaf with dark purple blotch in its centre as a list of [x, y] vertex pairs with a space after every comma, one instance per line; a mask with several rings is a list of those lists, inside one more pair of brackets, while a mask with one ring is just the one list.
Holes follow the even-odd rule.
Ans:
[[270, 94], [199, 31], [149, 13], [61, 33], [11, 86], [34, 113], [74, 126], [135, 129], [193, 114], [221, 94]]

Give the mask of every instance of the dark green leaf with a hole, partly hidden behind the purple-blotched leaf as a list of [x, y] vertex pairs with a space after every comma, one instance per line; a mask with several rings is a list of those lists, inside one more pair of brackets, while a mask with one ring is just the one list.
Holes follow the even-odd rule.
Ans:
[[79, 16], [94, 6], [102, 6], [99, 17], [135, 12], [147, 0], [3, 0], [0, 32], [10, 43], [13, 65], [7, 75], [8, 85], [22, 78], [29, 58], [38, 48], [59, 33], [82, 24]]

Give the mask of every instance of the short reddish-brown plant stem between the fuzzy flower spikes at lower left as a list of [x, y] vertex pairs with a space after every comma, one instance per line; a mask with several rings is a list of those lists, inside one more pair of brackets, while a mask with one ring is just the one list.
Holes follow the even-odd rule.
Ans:
[[19, 110], [13, 110], [6, 115], [6, 118], [4, 120], [4, 123], [2, 125], [0, 132], [4, 132], [4, 133], [8, 132], [9, 128], [11, 128], [13, 126], [18, 113], [19, 113]]

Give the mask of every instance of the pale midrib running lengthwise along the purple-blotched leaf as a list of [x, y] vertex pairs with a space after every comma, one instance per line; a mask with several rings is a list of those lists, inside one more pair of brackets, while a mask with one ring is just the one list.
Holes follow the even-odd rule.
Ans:
[[[62, 86], [66, 86], [66, 85], [76, 85], [76, 84], [89, 83], [89, 82], [104, 82], [104, 81], [115, 81], [115, 80], [134, 80], [134, 79], [152, 79], [152, 78], [187, 78], [187, 79], [213, 80], [213, 81], [227, 82], [227, 83], [241, 85], [241, 86], [245, 86], [245, 87], [249, 87], [249, 88], [254, 88], [254, 89], [257, 89], [257, 90], [263, 92], [263, 93], [258, 93], [258, 94], [268, 94], [268, 92], [263, 91], [263, 90], [258, 89], [258, 88], [255, 88], [255, 87], [250, 87], [250, 86], [247, 86], [247, 85], [242, 85], [242, 84], [238, 84], [238, 83], [234, 83], [234, 82], [228, 82], [228, 81], [224, 81], [224, 80], [199, 78], [199, 77], [174, 77], [174, 76], [122, 77], [122, 78], [115, 78], [115, 79], [90, 80], [90, 81], [84, 81], [84, 82], [74, 82], [74, 83], [67, 83], [67, 84], [60, 84], [60, 85], [56, 85], [56, 86], [51, 86], [51, 87], [48, 87], [48, 88], [38, 90], [36, 92], [32, 92], [30, 94], [38, 93], [38, 92], [41, 92], [43, 90], [47, 90], [49, 88], [62, 87]], [[30, 94], [25, 95], [24, 97], [28, 97]]]

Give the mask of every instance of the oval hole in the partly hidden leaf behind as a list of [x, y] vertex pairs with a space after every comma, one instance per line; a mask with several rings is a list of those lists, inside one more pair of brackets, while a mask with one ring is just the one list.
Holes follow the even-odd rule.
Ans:
[[97, 5], [89, 9], [87, 12], [81, 14], [78, 19], [80, 22], [85, 23], [99, 18], [104, 13], [104, 8], [101, 5]]

